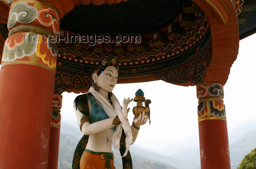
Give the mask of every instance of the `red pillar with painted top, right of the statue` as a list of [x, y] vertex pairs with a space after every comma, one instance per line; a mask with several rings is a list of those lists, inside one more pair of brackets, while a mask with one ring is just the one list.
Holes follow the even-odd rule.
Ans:
[[197, 84], [201, 169], [230, 169], [223, 85]]

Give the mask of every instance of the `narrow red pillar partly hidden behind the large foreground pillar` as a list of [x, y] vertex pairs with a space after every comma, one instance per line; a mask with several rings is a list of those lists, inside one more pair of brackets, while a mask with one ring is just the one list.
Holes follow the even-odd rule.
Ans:
[[62, 106], [62, 95], [54, 93], [52, 102], [52, 120], [50, 129], [50, 143], [47, 169], [58, 168], [59, 145], [60, 145], [60, 123]]

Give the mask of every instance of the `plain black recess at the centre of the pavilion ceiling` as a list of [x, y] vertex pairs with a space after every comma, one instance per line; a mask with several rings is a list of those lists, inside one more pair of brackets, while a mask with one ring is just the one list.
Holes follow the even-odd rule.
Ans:
[[60, 27], [86, 34], [147, 34], [174, 20], [183, 0], [129, 0], [119, 4], [77, 5]]

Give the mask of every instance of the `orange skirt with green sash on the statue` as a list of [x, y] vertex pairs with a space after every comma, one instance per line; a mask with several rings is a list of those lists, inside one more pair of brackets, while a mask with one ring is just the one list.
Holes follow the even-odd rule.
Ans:
[[114, 154], [85, 149], [80, 160], [80, 169], [116, 169]]

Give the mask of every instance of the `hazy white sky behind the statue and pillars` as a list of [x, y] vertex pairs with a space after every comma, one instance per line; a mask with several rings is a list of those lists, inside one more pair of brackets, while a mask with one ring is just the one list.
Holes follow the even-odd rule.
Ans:
[[[256, 34], [240, 41], [239, 54], [230, 70], [229, 79], [224, 86], [227, 126], [234, 127], [248, 119], [256, 119], [255, 96], [255, 43]], [[144, 97], [150, 99], [151, 125], [140, 127], [135, 145], [161, 152], [169, 145], [180, 142], [191, 135], [197, 135], [196, 87], [182, 87], [162, 80], [145, 83], [117, 84], [113, 93], [120, 102], [123, 98], [134, 98], [135, 92], [142, 89]], [[76, 121], [73, 102], [78, 94], [63, 93], [62, 119]], [[128, 105], [136, 106], [135, 102]], [[129, 112], [132, 123], [134, 115]], [[199, 145], [198, 145], [199, 146]]]

